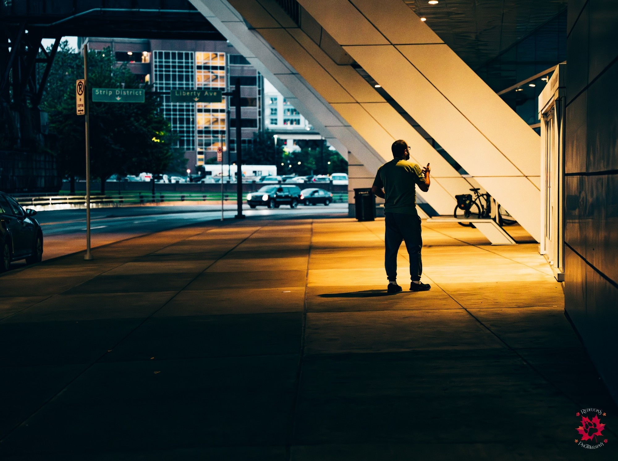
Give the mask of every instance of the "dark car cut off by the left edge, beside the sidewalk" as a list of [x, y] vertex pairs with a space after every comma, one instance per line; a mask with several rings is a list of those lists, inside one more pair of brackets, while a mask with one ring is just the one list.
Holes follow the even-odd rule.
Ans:
[[0, 192], [0, 272], [9, 270], [12, 261], [41, 261], [43, 231], [35, 214], [35, 210], [23, 209], [13, 197]]

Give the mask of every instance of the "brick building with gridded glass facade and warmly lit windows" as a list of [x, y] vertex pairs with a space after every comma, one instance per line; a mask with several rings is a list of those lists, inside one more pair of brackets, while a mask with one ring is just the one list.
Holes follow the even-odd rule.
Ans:
[[[127, 63], [133, 74], [153, 90], [163, 93], [163, 114], [178, 135], [177, 147], [185, 151], [187, 167], [204, 164], [226, 146], [226, 109], [222, 103], [172, 103], [169, 91], [234, 88], [240, 79], [242, 104], [242, 145], [251, 145], [253, 133], [262, 130], [263, 79], [231, 44], [226, 41], [135, 40], [129, 38], [80, 39], [90, 49], [111, 48], [116, 61]], [[296, 117], [297, 118], [297, 117]], [[235, 127], [235, 111], [231, 108], [231, 127]], [[235, 161], [236, 139], [232, 130], [229, 161]], [[227, 160], [227, 156], [226, 156]]]

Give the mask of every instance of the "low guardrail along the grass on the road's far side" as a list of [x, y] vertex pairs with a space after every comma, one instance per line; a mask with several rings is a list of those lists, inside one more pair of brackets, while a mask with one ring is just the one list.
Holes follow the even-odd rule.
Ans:
[[[248, 192], [247, 192], [248, 193]], [[243, 193], [243, 200], [246, 199], [247, 193]], [[67, 208], [84, 208], [86, 206], [85, 195], [50, 195], [41, 197], [35, 195], [15, 194], [15, 199], [24, 208], [33, 208], [37, 211], [43, 209], [67, 209]], [[334, 203], [347, 202], [347, 193], [334, 193]], [[224, 201], [236, 202], [235, 193], [224, 193]], [[93, 208], [97, 207], [113, 207], [113, 206], [138, 206], [151, 205], [162, 203], [211, 203], [221, 202], [221, 192], [211, 193], [178, 193], [178, 192], [157, 192], [157, 193], [125, 193], [122, 195], [91, 195], [90, 205]]]

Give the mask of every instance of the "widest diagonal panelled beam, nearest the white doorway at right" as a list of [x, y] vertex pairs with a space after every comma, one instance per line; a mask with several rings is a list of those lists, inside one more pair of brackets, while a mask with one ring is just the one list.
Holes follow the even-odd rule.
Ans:
[[402, 0], [299, 0], [540, 240], [540, 138]]

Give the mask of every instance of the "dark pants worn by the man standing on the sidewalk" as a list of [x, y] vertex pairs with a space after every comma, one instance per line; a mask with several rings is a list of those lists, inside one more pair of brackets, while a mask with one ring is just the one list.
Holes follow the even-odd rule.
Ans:
[[389, 281], [397, 279], [397, 252], [399, 252], [401, 241], [404, 240], [405, 248], [410, 255], [410, 279], [420, 281], [421, 273], [423, 273], [421, 218], [417, 213], [384, 213], [384, 216], [386, 216], [386, 233], [384, 235], [386, 276]]

